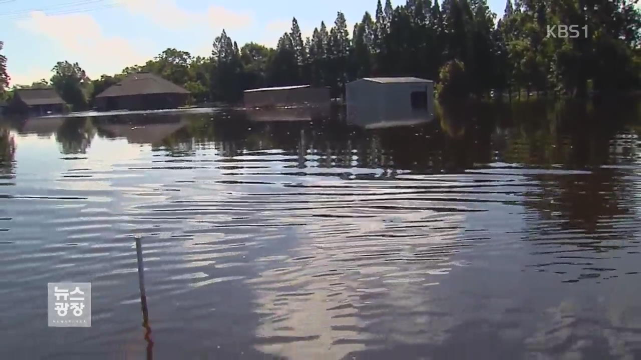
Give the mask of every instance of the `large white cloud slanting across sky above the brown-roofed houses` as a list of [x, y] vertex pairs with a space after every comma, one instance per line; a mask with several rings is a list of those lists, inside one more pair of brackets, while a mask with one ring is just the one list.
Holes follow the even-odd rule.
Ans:
[[[51, 44], [60, 46], [66, 58], [78, 61], [90, 77], [120, 72], [124, 67], [144, 63], [151, 58], [125, 38], [104, 35], [94, 17], [88, 13], [46, 15], [44, 12], [31, 12], [28, 19], [19, 21], [17, 26], [44, 36]], [[44, 70], [36, 69], [24, 74], [13, 74], [12, 83], [31, 83], [50, 77], [44, 74]]]

